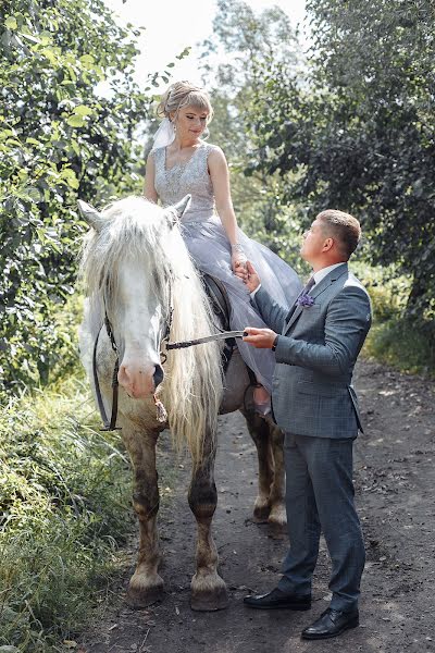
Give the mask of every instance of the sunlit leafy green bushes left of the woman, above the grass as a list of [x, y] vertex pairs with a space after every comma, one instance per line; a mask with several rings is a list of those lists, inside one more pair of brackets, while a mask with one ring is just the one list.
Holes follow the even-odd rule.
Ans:
[[138, 34], [119, 27], [102, 0], [1, 3], [5, 389], [47, 382], [58, 354], [61, 338], [51, 315], [73, 292], [84, 230], [77, 196], [101, 204], [140, 189], [133, 135], [148, 100], [133, 82]]

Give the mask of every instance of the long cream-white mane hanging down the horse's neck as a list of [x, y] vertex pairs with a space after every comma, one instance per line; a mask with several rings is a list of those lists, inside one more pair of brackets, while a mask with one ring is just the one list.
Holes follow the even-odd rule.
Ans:
[[[209, 300], [183, 241], [178, 224], [167, 212], [141, 197], [115, 201], [101, 213], [105, 222], [99, 232], [86, 236], [82, 272], [91, 303], [91, 330], [96, 333], [103, 317], [102, 291], [107, 288], [111, 316], [116, 316], [117, 270], [126, 258], [144, 261], [154, 281], [163, 308], [173, 304], [171, 340], [184, 341], [215, 331]], [[169, 283], [170, 282], [170, 283]], [[112, 317], [116, 320], [116, 317]], [[94, 335], [95, 335], [94, 333]], [[222, 369], [215, 343], [167, 353], [165, 379], [159, 387], [177, 445], [186, 442], [194, 460], [202, 459], [206, 430], [215, 432], [222, 399]]]

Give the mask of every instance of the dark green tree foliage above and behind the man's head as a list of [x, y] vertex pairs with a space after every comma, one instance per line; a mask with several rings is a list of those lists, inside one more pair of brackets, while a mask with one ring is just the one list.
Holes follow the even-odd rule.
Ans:
[[[264, 69], [251, 102], [248, 173], [279, 172], [300, 219], [334, 207], [362, 221], [372, 262], [411, 278], [407, 315], [435, 317], [435, 39], [431, 0], [308, 2], [304, 83]], [[434, 334], [434, 329], [432, 328]]]

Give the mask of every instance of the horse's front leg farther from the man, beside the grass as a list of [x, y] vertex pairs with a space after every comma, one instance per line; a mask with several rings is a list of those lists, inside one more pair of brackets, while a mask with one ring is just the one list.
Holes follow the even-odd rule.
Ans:
[[159, 486], [156, 469], [158, 432], [137, 431], [123, 427], [123, 440], [134, 470], [133, 507], [139, 519], [139, 554], [130, 578], [127, 601], [134, 608], [156, 603], [163, 594], [163, 579], [158, 574], [161, 559], [157, 516]]

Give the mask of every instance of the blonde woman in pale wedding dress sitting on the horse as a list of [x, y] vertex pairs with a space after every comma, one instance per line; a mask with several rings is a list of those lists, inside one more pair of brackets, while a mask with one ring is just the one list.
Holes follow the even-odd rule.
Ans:
[[[281, 306], [293, 304], [301, 284], [290, 267], [237, 226], [225, 156], [220, 147], [201, 139], [213, 116], [209, 96], [189, 82], [176, 82], [162, 96], [158, 113], [164, 119], [148, 157], [145, 196], [169, 206], [191, 195], [182, 221], [190, 256], [200, 270], [225, 285], [232, 307], [232, 330], [243, 330], [248, 324], [264, 328], [244, 283], [246, 261], [252, 261], [262, 285]], [[257, 378], [256, 407], [266, 415], [275, 355], [271, 349], [256, 349], [240, 340], [237, 346]]]

